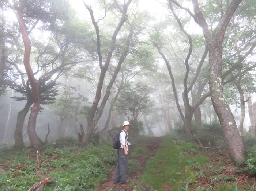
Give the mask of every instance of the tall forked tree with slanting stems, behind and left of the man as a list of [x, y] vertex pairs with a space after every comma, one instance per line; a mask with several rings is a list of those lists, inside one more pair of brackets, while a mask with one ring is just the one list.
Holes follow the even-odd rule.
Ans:
[[91, 20], [92, 20], [93, 25], [95, 27], [95, 31], [96, 31], [96, 35], [97, 35], [97, 54], [98, 54], [98, 58], [99, 58], [99, 67], [101, 69], [101, 73], [100, 73], [99, 81], [98, 81], [98, 85], [97, 85], [97, 90], [96, 90], [96, 95], [95, 95], [93, 104], [91, 106], [91, 110], [90, 110], [88, 118], [87, 118], [87, 132], [86, 132], [86, 135], [83, 137], [83, 142], [88, 143], [92, 134], [93, 134], [94, 127], [97, 125], [98, 119], [99, 119], [99, 117], [101, 116], [101, 114], [103, 112], [106, 101], [108, 100], [108, 97], [110, 95], [111, 87], [114, 83], [114, 80], [116, 79], [118, 71], [120, 70], [121, 64], [123, 63], [123, 61], [125, 59], [125, 56], [127, 55], [133, 30], [132, 30], [132, 25], [131, 25], [129, 36], [128, 36], [127, 42], [125, 44], [125, 49], [124, 49], [122, 55], [120, 56], [118, 65], [117, 65], [116, 70], [115, 70], [115, 74], [113, 75], [112, 79], [110, 80], [109, 85], [108, 85], [107, 90], [106, 90], [106, 94], [105, 94], [105, 96], [104, 96], [104, 98], [101, 102], [101, 106], [99, 108], [100, 113], [97, 114], [97, 116], [95, 118], [98, 103], [99, 103], [99, 100], [101, 98], [101, 91], [102, 91], [103, 81], [105, 79], [105, 74], [106, 74], [106, 71], [108, 70], [110, 59], [111, 59], [113, 51], [114, 51], [114, 46], [115, 46], [115, 43], [116, 43], [117, 34], [120, 31], [121, 27], [123, 26], [124, 22], [127, 20], [127, 9], [128, 9], [128, 7], [131, 3], [131, 0], [128, 0], [128, 2], [124, 1], [123, 7], [120, 7], [120, 5], [117, 3], [117, 1], [115, 1], [115, 3], [114, 3], [116, 5], [117, 10], [121, 13], [121, 19], [120, 19], [116, 29], [113, 32], [112, 40], [109, 44], [109, 51], [108, 51], [108, 54], [106, 55], [106, 60], [105, 60], [104, 65], [103, 65], [103, 60], [102, 60], [101, 40], [100, 40], [98, 22], [96, 22], [96, 20], [95, 20], [92, 8], [89, 5], [87, 5], [85, 3], [85, 1], [83, 1], [83, 2], [84, 2], [85, 7], [87, 8], [87, 10], [90, 13]]

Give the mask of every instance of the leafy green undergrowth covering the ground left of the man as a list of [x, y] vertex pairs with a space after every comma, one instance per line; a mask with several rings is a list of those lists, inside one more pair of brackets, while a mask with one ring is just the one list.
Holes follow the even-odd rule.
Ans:
[[[8, 149], [0, 151], [0, 191], [24, 191], [42, 177], [36, 174], [36, 150]], [[44, 186], [44, 191], [86, 191], [95, 190], [111, 171], [116, 162], [116, 150], [111, 144], [81, 145], [74, 140], [62, 139], [54, 145], [42, 149], [39, 160], [44, 161], [39, 172], [50, 177], [52, 184]]]

